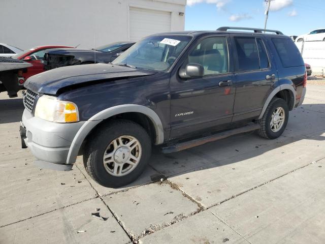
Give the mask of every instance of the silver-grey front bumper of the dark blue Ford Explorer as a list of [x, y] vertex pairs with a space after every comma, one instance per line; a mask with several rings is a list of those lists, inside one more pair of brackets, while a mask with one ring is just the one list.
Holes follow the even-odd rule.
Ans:
[[53, 123], [34, 117], [28, 110], [22, 115], [20, 136], [37, 158], [36, 164], [43, 168], [70, 170], [67, 164], [71, 143], [84, 121], [77, 123]]

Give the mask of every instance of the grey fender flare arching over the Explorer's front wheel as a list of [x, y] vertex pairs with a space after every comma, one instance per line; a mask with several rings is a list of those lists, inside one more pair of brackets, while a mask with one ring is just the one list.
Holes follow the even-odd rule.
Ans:
[[67, 164], [75, 163], [83, 141], [96, 125], [100, 124], [104, 119], [127, 112], [138, 112], [149, 117], [156, 132], [155, 144], [158, 145], [164, 142], [163, 124], [156, 112], [146, 106], [138, 104], [117, 105], [96, 113], [82, 125], [71, 143], [67, 157]]

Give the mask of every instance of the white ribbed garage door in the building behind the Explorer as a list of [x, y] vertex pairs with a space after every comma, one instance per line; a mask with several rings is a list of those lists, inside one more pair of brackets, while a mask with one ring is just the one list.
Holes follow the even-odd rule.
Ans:
[[129, 32], [131, 41], [159, 33], [171, 31], [171, 13], [151, 9], [130, 7]]

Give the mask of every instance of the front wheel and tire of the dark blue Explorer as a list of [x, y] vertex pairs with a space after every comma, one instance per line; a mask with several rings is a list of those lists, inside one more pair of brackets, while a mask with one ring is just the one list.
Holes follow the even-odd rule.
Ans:
[[[136, 145], [134, 149], [127, 146], [132, 141], [135, 141], [132, 145]], [[90, 135], [86, 148], [83, 160], [87, 173], [100, 185], [111, 188], [125, 186], [137, 179], [151, 156], [151, 140], [146, 130], [124, 119], [110, 121], [96, 129]], [[136, 163], [131, 154], [138, 160]], [[106, 162], [104, 157], [109, 155], [112, 157], [108, 157]], [[123, 162], [115, 161], [118, 159]]]

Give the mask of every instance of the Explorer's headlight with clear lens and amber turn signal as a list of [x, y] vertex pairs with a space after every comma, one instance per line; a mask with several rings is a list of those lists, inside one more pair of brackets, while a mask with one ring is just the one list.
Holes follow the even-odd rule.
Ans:
[[35, 116], [57, 123], [79, 121], [77, 105], [72, 102], [57, 100], [55, 97], [43, 95], [37, 101]]

